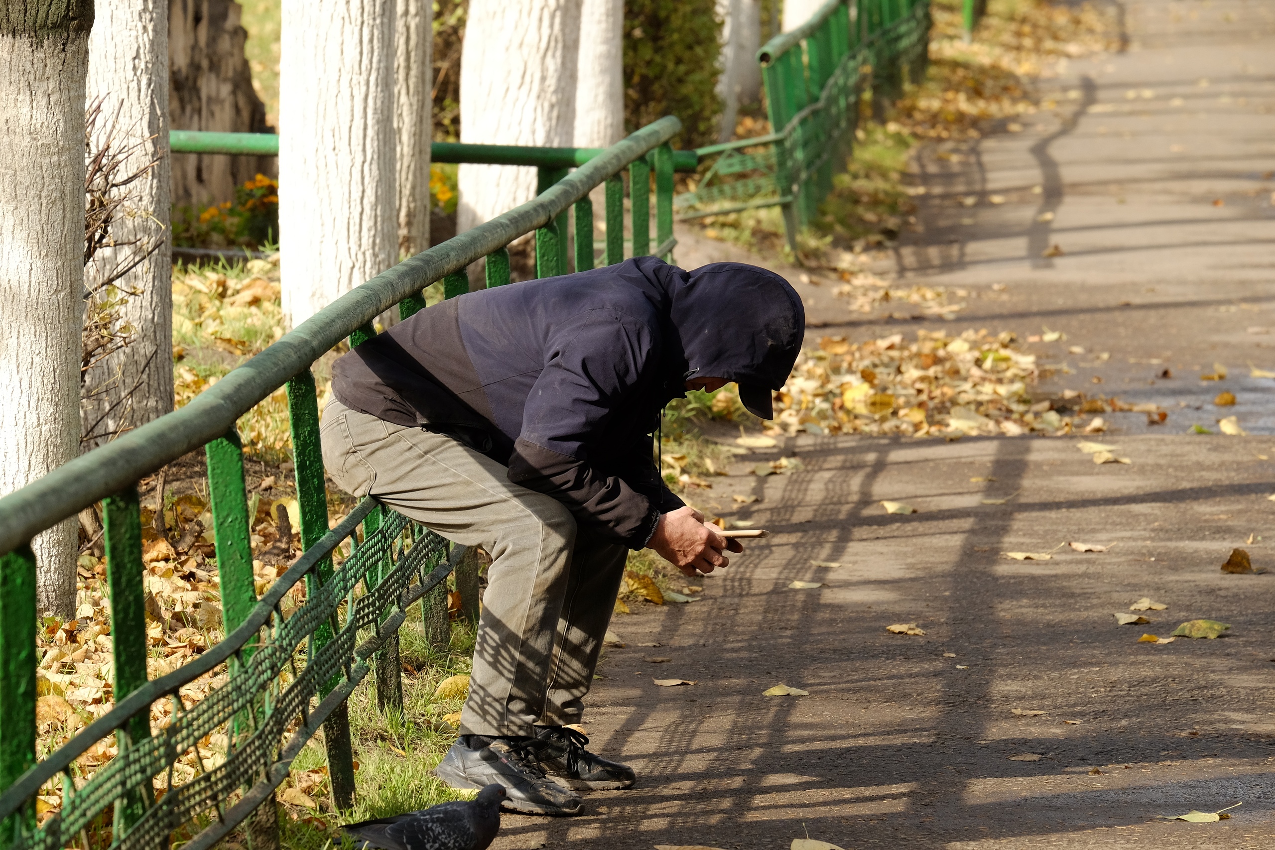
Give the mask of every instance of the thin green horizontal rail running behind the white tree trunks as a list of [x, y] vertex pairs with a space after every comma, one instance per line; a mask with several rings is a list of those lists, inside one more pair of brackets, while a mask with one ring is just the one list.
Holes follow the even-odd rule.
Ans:
[[[279, 136], [273, 133], [212, 133], [207, 130], [170, 130], [168, 148], [173, 153], [223, 153], [255, 157], [278, 157]], [[430, 145], [432, 162], [469, 162], [491, 166], [538, 166], [575, 168], [606, 152], [606, 148], [533, 148], [506, 144], [464, 144], [435, 141]], [[674, 150], [674, 171], [695, 171], [699, 157], [694, 150]]]

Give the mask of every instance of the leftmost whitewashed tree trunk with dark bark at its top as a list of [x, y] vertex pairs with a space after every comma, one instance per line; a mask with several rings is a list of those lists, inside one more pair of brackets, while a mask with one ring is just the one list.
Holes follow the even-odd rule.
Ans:
[[[0, 493], [79, 454], [92, 0], [0, 3]], [[75, 612], [76, 519], [33, 540], [40, 610]]]

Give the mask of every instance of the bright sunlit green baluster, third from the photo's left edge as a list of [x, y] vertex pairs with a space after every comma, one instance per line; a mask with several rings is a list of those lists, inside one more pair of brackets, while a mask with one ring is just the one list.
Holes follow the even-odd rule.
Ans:
[[[222, 590], [222, 624], [229, 635], [256, 605], [252, 584], [251, 521], [247, 515], [247, 488], [244, 486], [244, 443], [231, 428], [213, 440], [208, 456], [208, 489], [213, 503], [213, 538], [217, 545], [217, 573]], [[252, 654], [251, 645], [244, 656]]]

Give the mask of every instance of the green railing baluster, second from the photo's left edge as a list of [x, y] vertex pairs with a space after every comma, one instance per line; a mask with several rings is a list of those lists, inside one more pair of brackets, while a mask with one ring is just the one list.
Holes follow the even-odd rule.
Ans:
[[[142, 506], [138, 488], [129, 487], [102, 502], [106, 576], [111, 594], [111, 650], [115, 660], [115, 701], [147, 683], [145, 587], [142, 584]], [[134, 716], [115, 739], [122, 753], [150, 737], [147, 712]], [[117, 842], [147, 810], [150, 782], [127, 789], [115, 800], [113, 839]]]

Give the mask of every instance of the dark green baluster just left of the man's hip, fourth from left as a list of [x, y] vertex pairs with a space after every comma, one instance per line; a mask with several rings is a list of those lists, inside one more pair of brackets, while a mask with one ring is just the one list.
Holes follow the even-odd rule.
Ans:
[[[399, 305], [400, 315], [408, 299]], [[301, 548], [309, 549], [328, 533], [328, 487], [324, 480], [323, 449], [319, 443], [319, 400], [310, 370], [293, 377], [287, 386], [292, 465], [297, 482], [297, 505], [301, 508]], [[306, 576], [306, 598], [314, 599], [330, 579], [329, 556], [315, 565]], [[310, 637], [309, 658], [314, 658], [314, 654], [332, 637], [332, 626], [323, 623], [316, 627]], [[333, 677], [320, 692], [326, 696], [337, 687], [337, 677]], [[338, 808], [349, 808], [354, 796], [354, 752], [349, 738], [349, 714], [344, 705], [328, 716], [323, 731], [328, 748], [328, 775], [332, 777], [333, 799]]]

